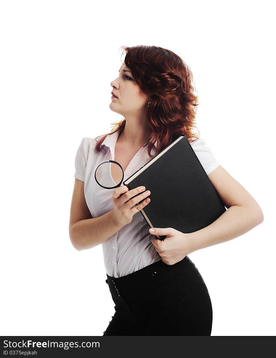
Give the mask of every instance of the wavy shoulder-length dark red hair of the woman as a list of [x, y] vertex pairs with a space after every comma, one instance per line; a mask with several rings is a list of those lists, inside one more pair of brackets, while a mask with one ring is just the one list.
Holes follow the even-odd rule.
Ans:
[[[150, 97], [146, 121], [151, 129], [148, 154], [157, 140], [156, 154], [171, 144], [180, 135], [185, 135], [189, 142], [199, 139], [200, 133], [195, 125], [198, 97], [192, 86], [193, 76], [187, 64], [174, 52], [157, 46], [138, 45], [121, 46], [126, 53], [125, 64], [142, 92]], [[112, 131], [102, 137], [95, 146], [101, 150], [106, 136], [125, 127], [125, 118], [114, 125]], [[114, 128], [118, 128], [114, 130]], [[199, 135], [193, 133], [196, 128]], [[99, 137], [99, 136], [98, 136]], [[96, 137], [96, 138], [98, 138]]]

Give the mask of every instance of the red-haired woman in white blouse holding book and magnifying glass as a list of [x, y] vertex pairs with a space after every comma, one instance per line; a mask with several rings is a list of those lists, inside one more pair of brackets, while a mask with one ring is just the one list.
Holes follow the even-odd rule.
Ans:
[[[211, 335], [209, 292], [187, 255], [240, 236], [260, 224], [263, 214], [255, 199], [217, 163], [205, 141], [192, 133], [197, 96], [185, 62], [161, 47], [124, 50], [119, 76], [111, 82], [116, 97], [112, 96], [110, 109], [125, 118], [99, 141], [81, 141], [70, 239], [77, 250], [102, 244], [106, 283], [115, 303], [104, 335]], [[193, 233], [174, 228], [150, 233], [140, 212], [150, 203], [147, 188], [101, 188], [95, 169], [112, 159], [127, 178], [180, 135], [189, 140], [228, 210]], [[117, 173], [111, 174], [118, 182]], [[166, 235], [165, 240], [156, 239], [156, 234]]]

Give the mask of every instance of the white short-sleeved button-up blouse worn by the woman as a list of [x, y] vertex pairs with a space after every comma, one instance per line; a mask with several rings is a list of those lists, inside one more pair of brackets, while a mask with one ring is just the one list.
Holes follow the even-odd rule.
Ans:
[[[95, 180], [95, 169], [102, 161], [114, 160], [118, 136], [119, 131], [108, 135], [102, 142], [106, 153], [104, 149], [96, 151], [96, 137], [84, 137], [76, 153], [75, 178], [84, 182], [85, 200], [93, 218], [113, 209], [112, 193], [115, 189], [100, 187]], [[205, 145], [204, 139], [197, 139], [190, 144], [207, 175], [219, 166], [212, 151]], [[151, 159], [147, 154], [147, 148], [148, 146], [142, 147], [135, 154], [124, 171], [123, 180]], [[154, 146], [151, 154], [155, 155], [155, 153]], [[135, 213], [129, 224], [101, 244], [106, 273], [111, 277], [121, 277], [160, 260], [159, 253], [151, 243], [152, 238], [155, 236], [149, 233], [149, 225], [141, 212]]]

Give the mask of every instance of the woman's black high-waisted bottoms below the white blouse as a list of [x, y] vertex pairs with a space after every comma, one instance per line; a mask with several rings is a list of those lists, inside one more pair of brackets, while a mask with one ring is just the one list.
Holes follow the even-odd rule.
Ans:
[[159, 260], [119, 278], [107, 275], [106, 283], [115, 313], [104, 336], [211, 335], [209, 292], [188, 256], [174, 265]]

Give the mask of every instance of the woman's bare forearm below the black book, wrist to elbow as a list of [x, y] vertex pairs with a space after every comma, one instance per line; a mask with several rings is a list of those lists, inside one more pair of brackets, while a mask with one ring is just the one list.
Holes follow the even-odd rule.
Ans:
[[233, 205], [209, 226], [192, 232], [191, 252], [234, 239], [264, 221], [260, 207]]

